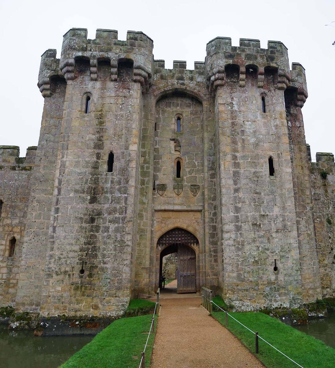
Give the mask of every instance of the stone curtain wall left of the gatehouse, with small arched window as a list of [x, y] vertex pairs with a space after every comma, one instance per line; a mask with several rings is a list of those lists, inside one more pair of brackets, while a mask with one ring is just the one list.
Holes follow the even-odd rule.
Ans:
[[[19, 157], [17, 146], [0, 146], [0, 307], [15, 305], [24, 230], [27, 220], [31, 175], [36, 147]], [[10, 241], [15, 237], [15, 252], [10, 256]]]

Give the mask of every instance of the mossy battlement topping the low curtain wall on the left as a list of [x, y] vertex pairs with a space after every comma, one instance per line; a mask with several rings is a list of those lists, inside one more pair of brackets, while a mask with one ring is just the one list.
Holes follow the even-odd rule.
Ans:
[[19, 146], [0, 146], [0, 169], [8, 167], [10, 170], [27, 171], [35, 163], [36, 146], [27, 148], [25, 157], [20, 157]]

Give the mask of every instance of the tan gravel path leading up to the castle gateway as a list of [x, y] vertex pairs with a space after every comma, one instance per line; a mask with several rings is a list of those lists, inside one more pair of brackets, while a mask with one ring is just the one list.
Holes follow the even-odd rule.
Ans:
[[264, 368], [201, 307], [201, 298], [163, 299], [150, 368]]

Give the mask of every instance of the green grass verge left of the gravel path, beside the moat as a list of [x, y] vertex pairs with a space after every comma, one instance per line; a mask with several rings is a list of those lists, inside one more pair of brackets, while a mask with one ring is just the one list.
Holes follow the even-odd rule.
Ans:
[[[72, 355], [60, 368], [139, 367], [151, 320], [151, 315], [145, 315], [114, 321], [98, 333], [90, 343]], [[157, 316], [155, 316], [155, 326], [156, 322]], [[154, 335], [154, 333], [150, 334], [145, 351], [146, 367], [150, 365]]]

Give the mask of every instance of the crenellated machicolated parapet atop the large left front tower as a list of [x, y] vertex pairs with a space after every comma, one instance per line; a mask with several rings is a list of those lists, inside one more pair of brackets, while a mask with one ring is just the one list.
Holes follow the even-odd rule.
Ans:
[[99, 60], [111, 63], [111, 80], [118, 79], [120, 60], [133, 61], [133, 81], [149, 86], [152, 80], [153, 40], [143, 32], [128, 31], [127, 40], [118, 40], [118, 32], [97, 29], [95, 39], [87, 39], [87, 29], [71, 28], [63, 36], [60, 70], [66, 80], [75, 78], [76, 59], [90, 62], [91, 80], [98, 80]]

